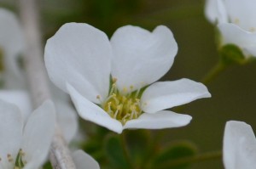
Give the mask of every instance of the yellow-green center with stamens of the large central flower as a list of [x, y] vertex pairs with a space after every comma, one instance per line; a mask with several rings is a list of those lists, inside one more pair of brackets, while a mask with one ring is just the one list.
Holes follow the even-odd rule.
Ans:
[[108, 98], [103, 102], [102, 109], [125, 125], [126, 121], [137, 119], [142, 114], [140, 89], [132, 91], [133, 86], [131, 86], [131, 91], [127, 88], [119, 91], [116, 82], [117, 79], [113, 78]]

